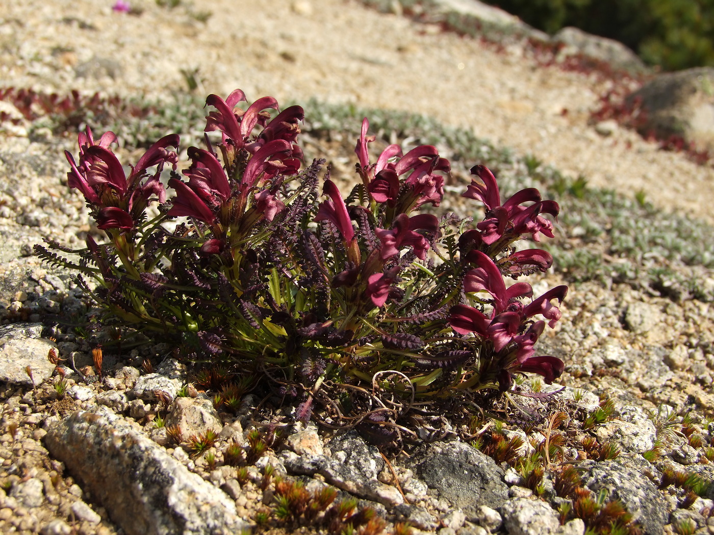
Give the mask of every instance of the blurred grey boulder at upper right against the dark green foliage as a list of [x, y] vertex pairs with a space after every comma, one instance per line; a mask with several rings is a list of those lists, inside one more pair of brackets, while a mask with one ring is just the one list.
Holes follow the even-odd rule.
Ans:
[[636, 72], [645, 70], [645, 64], [638, 55], [619, 41], [587, 34], [581, 29], [573, 28], [573, 26], [565, 26], [565, 28], [560, 29], [552, 40], [556, 43], [564, 44], [566, 46], [564, 52], [568, 56], [584, 54], [585, 56], [590, 56], [590, 58], [609, 63], [614, 68]]

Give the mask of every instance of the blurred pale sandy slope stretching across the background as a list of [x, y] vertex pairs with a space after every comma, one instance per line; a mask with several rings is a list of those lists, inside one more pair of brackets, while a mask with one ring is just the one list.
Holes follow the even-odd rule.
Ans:
[[[351, 0], [212, 0], [200, 9], [110, 1], [6, 0], [0, 6], [1, 85], [162, 94], [198, 68], [201, 93], [397, 108], [473, 128], [589, 183], [714, 221], [714, 170], [656, 150], [634, 133], [588, 126], [603, 84], [543, 68], [520, 46], [496, 51]], [[198, 10], [199, 8], [196, 8]], [[109, 76], [108, 76], [109, 75]], [[563, 109], [568, 113], [563, 114]]]

